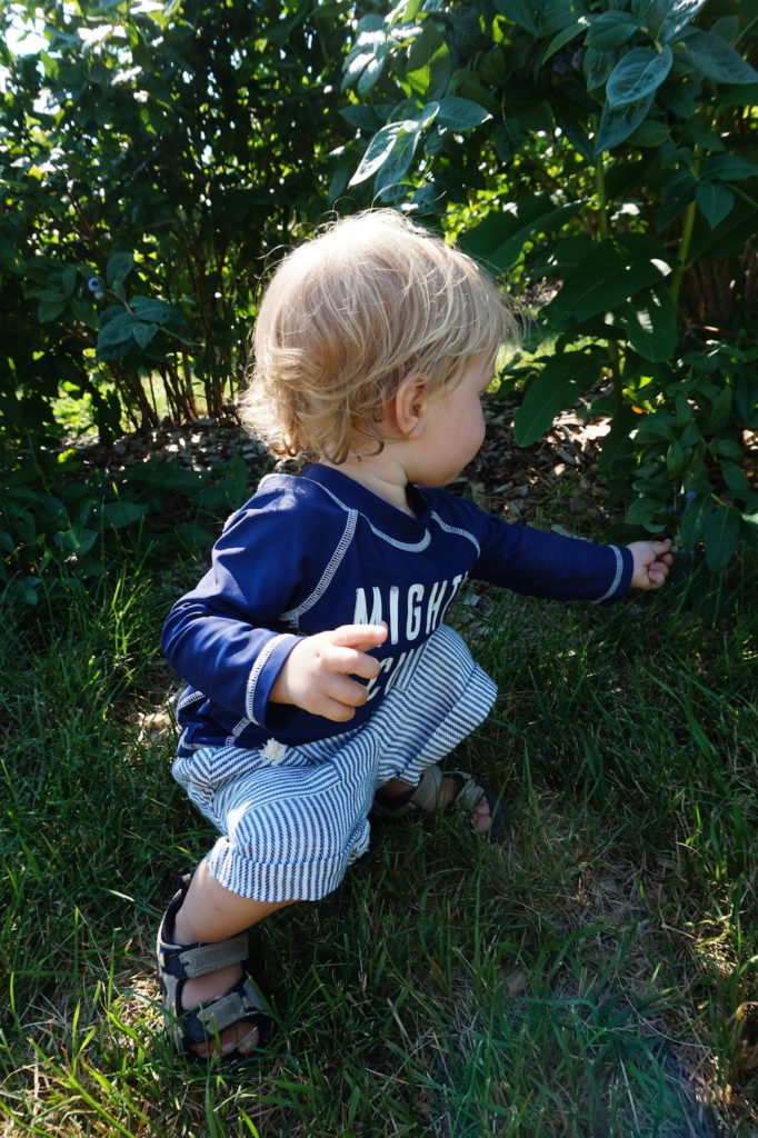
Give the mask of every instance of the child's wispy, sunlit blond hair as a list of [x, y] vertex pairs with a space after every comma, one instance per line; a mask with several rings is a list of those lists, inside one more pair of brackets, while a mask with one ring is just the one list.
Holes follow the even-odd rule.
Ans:
[[277, 454], [341, 463], [362, 440], [381, 450], [385, 407], [406, 377], [434, 393], [514, 332], [470, 257], [393, 209], [356, 214], [274, 273], [240, 419]]

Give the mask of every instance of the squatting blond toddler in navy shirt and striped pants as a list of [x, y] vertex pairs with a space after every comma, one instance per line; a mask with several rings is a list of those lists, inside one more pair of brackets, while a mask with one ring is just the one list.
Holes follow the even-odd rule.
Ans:
[[438, 765], [495, 699], [444, 622], [469, 577], [595, 602], [666, 579], [668, 541], [510, 526], [438, 488], [481, 445], [481, 395], [514, 331], [471, 259], [386, 209], [304, 244], [265, 292], [242, 417], [310, 465], [262, 480], [165, 626], [189, 684], [174, 775], [221, 833], [158, 934], [181, 1050], [265, 1047], [247, 930], [336, 889], [371, 811], [456, 807], [501, 836], [497, 794]]

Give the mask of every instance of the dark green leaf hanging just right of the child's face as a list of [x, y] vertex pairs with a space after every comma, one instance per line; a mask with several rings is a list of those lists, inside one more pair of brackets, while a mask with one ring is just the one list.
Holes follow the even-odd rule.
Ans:
[[567, 352], [549, 358], [527, 387], [514, 417], [517, 446], [530, 446], [549, 430], [553, 419], [572, 406], [596, 382], [604, 362], [602, 352]]

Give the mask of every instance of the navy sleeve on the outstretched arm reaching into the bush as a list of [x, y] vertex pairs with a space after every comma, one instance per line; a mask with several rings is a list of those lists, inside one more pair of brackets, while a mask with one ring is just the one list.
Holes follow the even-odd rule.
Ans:
[[528, 596], [610, 604], [629, 588], [631, 550], [598, 545], [501, 518], [479, 516], [480, 552], [471, 576]]

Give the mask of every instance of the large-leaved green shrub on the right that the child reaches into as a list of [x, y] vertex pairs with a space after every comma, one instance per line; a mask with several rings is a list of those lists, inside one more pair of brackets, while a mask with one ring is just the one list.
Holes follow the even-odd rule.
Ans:
[[605, 386], [612, 498], [648, 533], [681, 516], [714, 571], [758, 511], [752, 23], [740, 0], [410, 0], [359, 23], [344, 79], [355, 192], [544, 297], [502, 377], [517, 443]]

